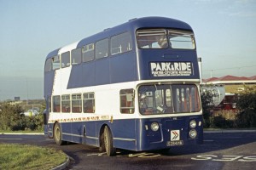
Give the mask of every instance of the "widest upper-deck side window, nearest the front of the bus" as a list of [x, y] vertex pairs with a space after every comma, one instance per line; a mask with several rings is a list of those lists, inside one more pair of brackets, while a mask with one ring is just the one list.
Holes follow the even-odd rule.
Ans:
[[132, 50], [131, 35], [129, 32], [111, 37], [111, 54], [122, 54]]

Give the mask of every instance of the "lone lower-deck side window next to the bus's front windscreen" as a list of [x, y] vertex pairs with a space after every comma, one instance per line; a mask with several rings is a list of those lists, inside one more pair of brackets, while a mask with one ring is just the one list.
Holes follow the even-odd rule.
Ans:
[[120, 90], [120, 112], [134, 113], [134, 90], [132, 88]]

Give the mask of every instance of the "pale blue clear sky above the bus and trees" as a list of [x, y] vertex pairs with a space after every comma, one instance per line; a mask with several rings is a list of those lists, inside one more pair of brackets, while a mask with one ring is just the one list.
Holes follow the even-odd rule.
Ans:
[[203, 78], [256, 75], [255, 0], [0, 0], [0, 100], [44, 99], [50, 51], [145, 16], [193, 28]]

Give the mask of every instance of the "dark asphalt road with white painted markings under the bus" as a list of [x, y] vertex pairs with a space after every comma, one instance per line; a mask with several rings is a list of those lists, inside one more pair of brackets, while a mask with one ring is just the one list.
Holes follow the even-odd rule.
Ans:
[[118, 150], [108, 157], [83, 144], [58, 146], [44, 135], [0, 134], [0, 143], [36, 144], [63, 150], [72, 161], [67, 169], [255, 169], [256, 133], [205, 133], [204, 144], [169, 152]]

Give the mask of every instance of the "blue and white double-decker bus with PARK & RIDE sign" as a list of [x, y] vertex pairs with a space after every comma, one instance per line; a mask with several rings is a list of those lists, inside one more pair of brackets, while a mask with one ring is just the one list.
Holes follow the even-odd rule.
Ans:
[[201, 144], [200, 71], [192, 28], [145, 17], [50, 52], [44, 133], [56, 144], [167, 150]]

